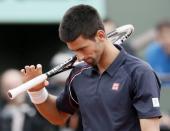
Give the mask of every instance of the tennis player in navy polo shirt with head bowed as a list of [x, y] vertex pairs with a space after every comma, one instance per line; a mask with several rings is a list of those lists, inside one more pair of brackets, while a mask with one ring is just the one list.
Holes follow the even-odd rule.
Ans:
[[[97, 11], [88, 5], [70, 8], [59, 36], [79, 61], [60, 96], [44, 86], [29, 95], [37, 110], [51, 123], [62, 125], [80, 109], [84, 131], [159, 131], [160, 83], [152, 69], [130, 56], [106, 37]], [[22, 69], [25, 81], [42, 73], [41, 65]]]

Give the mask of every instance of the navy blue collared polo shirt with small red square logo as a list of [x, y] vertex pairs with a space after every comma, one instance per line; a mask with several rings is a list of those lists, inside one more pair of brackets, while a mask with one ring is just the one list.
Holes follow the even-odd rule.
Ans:
[[160, 117], [160, 83], [143, 61], [120, 53], [101, 74], [86, 64], [71, 72], [57, 108], [80, 109], [84, 131], [140, 131], [139, 119]]

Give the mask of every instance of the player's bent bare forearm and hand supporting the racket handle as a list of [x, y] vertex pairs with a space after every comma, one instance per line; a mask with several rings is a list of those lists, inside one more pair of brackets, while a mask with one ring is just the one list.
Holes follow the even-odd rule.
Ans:
[[[36, 67], [34, 65], [31, 66], [25, 66], [25, 69], [21, 70], [21, 73], [23, 75], [24, 82], [27, 82], [34, 77], [42, 74], [42, 66], [37, 65]], [[31, 96], [31, 93], [36, 93], [38, 91], [43, 90], [45, 86], [48, 85], [48, 81], [45, 81], [31, 89], [29, 89], [29, 95]], [[65, 121], [68, 118], [68, 114], [61, 112], [57, 109], [56, 106], [56, 96], [52, 96], [48, 93], [46, 93], [47, 97], [45, 97], [45, 100], [41, 102], [40, 104], [35, 104], [37, 110], [40, 112], [42, 116], [44, 116], [49, 122], [55, 125], [63, 125]], [[42, 98], [40, 96], [43, 96], [43, 94], [38, 94], [38, 98]], [[32, 97], [33, 98], [33, 97]], [[46, 99], [47, 98], [47, 99]]]

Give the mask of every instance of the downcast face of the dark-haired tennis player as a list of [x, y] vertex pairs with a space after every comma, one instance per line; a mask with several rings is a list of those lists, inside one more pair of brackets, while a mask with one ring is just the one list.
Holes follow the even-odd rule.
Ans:
[[91, 40], [79, 36], [76, 40], [68, 42], [67, 46], [72, 50], [79, 61], [85, 61], [91, 66], [97, 65], [102, 54], [102, 44], [98, 39]]

